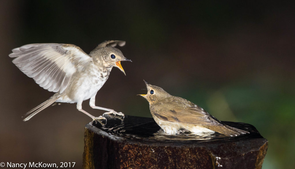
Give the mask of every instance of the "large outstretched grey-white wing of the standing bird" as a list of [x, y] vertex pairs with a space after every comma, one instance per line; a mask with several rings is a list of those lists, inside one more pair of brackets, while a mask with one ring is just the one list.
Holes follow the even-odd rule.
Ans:
[[63, 93], [74, 72], [82, 69], [92, 58], [76, 45], [36, 43], [12, 49], [9, 57], [40, 87]]

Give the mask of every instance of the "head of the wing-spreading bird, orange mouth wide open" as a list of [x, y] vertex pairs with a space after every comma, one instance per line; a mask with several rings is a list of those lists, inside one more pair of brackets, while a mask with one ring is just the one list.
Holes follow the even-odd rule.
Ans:
[[121, 61], [131, 61], [131, 60], [125, 58], [123, 53], [118, 48], [114, 48], [112, 46], [98, 48], [98, 49], [92, 51], [89, 55], [94, 59], [94, 61], [101, 60], [101, 57], [102, 57], [102, 60], [104, 62], [103, 64], [106, 67], [113, 67], [113, 66], [117, 67], [124, 74], [125, 74], [125, 71], [121, 66]]

